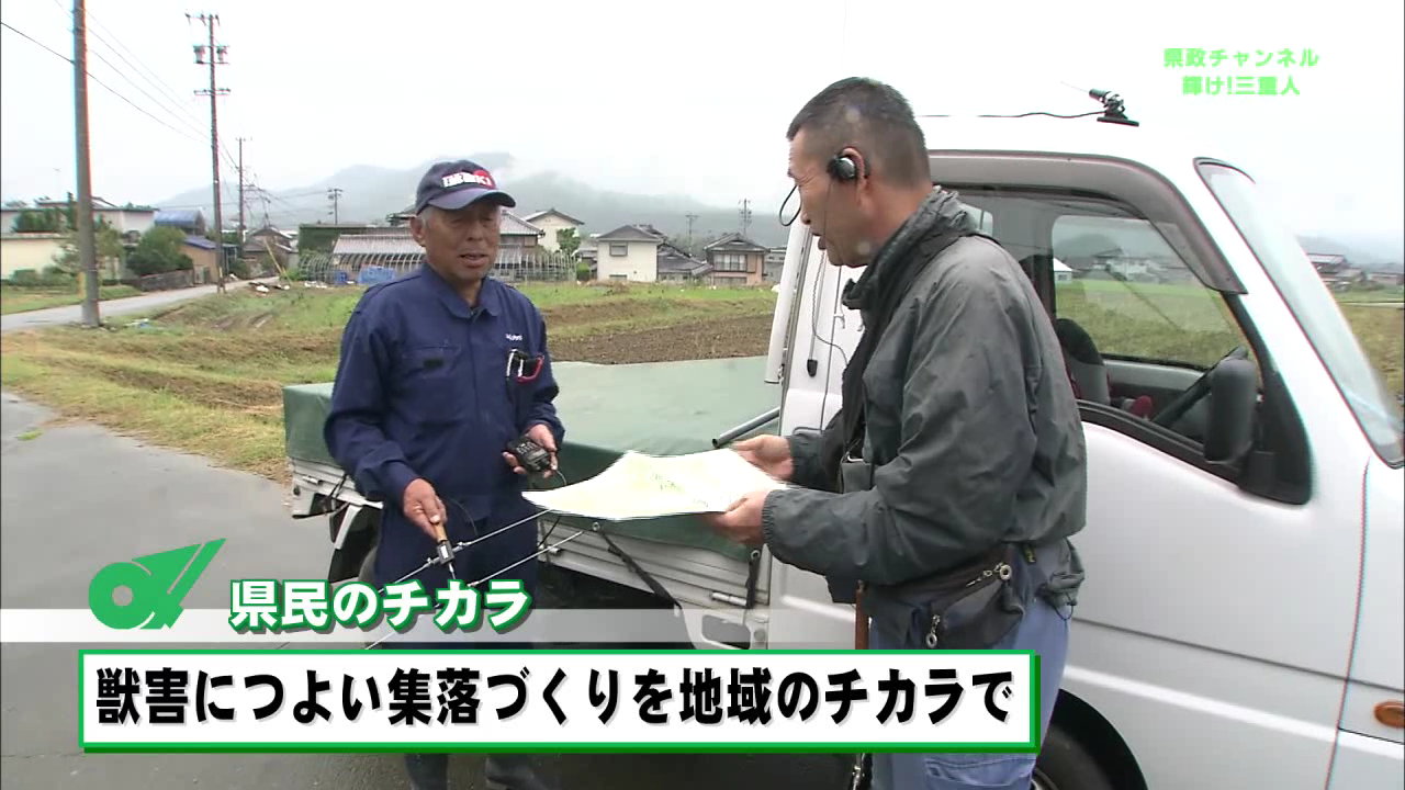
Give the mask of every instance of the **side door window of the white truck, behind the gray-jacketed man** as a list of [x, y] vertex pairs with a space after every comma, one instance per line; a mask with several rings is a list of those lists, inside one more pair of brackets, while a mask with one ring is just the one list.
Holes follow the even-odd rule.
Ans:
[[1154, 420], [1231, 353], [1257, 360], [1224, 295], [1187, 266], [1183, 229], [1086, 191], [968, 184], [960, 194], [1044, 299], [1085, 419], [1200, 464], [1203, 401], [1166, 426]]

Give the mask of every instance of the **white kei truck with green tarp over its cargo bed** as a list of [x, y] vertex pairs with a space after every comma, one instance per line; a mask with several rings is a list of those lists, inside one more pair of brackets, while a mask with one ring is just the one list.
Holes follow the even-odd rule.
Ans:
[[[1035, 787], [1398, 790], [1399, 405], [1255, 181], [1104, 104], [1087, 119], [924, 121], [933, 183], [1026, 266], [1061, 339], [1082, 337], [1065, 351], [1087, 579]], [[795, 222], [766, 357], [556, 363], [562, 470], [818, 430], [863, 330], [840, 304], [857, 276]], [[285, 426], [294, 516], [332, 514], [339, 582], [368, 566], [379, 505], [322, 447], [329, 392], [289, 387]], [[853, 645], [853, 607], [764, 550], [691, 519], [590, 527], [541, 524], [544, 547], [583, 531], [541, 555], [572, 606], [705, 610], [680, 634], [700, 648]], [[770, 617], [783, 610], [809, 617]]]

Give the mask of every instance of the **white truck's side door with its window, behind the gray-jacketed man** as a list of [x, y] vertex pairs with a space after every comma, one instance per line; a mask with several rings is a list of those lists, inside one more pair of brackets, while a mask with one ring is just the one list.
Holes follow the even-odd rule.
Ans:
[[[933, 181], [1051, 284], [1080, 384], [1087, 583], [1064, 690], [1151, 787], [1321, 787], [1350, 659], [1361, 455], [1305, 419], [1300, 394], [1321, 375], [1252, 252], [1198, 181], [1177, 190], [1127, 160], [939, 152]], [[785, 433], [839, 406], [860, 332], [839, 295], [857, 276], [802, 281]], [[1221, 374], [1241, 358], [1257, 371], [1242, 415], [1228, 385], [1205, 387], [1227, 381], [1211, 375], [1225, 358]], [[776, 572], [776, 603], [829, 607], [832, 626], [804, 641], [850, 638], [851, 610], [828, 604], [822, 579]]]

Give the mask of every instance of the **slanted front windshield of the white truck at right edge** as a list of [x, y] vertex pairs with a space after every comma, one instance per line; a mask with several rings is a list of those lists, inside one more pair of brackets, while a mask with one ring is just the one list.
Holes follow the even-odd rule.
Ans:
[[1200, 164], [1200, 174], [1298, 319], [1375, 453], [1387, 464], [1399, 465], [1405, 460], [1399, 406], [1302, 246], [1264, 211], [1263, 197], [1248, 176], [1208, 162]]

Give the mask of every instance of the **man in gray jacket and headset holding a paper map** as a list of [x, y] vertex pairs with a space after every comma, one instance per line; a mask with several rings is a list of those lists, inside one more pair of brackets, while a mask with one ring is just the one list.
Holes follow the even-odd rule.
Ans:
[[[801, 221], [832, 264], [864, 267], [844, 295], [864, 333], [823, 432], [735, 446], [794, 488], [747, 495], [712, 524], [823, 574], [836, 602], [861, 590], [873, 648], [1038, 652], [1044, 732], [1086, 499], [1054, 326], [1019, 263], [933, 186], [898, 91], [840, 80], [787, 138]], [[1014, 789], [1033, 768], [1034, 755], [874, 755], [873, 780]]]

